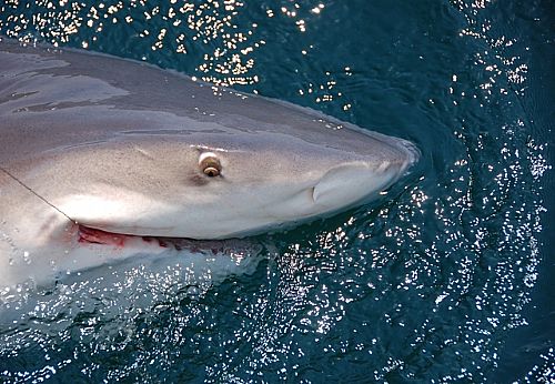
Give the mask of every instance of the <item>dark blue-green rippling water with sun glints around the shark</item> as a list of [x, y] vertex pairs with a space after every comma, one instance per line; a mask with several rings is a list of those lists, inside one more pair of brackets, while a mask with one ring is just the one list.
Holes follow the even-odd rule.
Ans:
[[423, 159], [382, 201], [263, 239], [231, 272], [145, 263], [41, 292], [0, 324], [0, 381], [555, 382], [554, 14], [4, 0], [0, 33], [307, 105]]

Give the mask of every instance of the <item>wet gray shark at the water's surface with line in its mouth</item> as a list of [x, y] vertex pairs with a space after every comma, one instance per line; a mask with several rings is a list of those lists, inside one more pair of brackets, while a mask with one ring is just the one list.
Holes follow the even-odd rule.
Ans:
[[285, 102], [0, 40], [0, 286], [330, 215], [418, 159]]

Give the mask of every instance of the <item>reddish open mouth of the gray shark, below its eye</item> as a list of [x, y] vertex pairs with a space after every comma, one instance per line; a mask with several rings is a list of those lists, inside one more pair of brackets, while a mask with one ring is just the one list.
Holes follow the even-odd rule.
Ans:
[[82, 224], [78, 224], [78, 242], [81, 244], [101, 244], [117, 249], [124, 249], [142, 241], [144, 245], [158, 245], [162, 249], [189, 251], [203, 254], [256, 254], [262, 246], [243, 239], [229, 240], [193, 240], [185, 238], [138, 236], [122, 233], [107, 232]]

